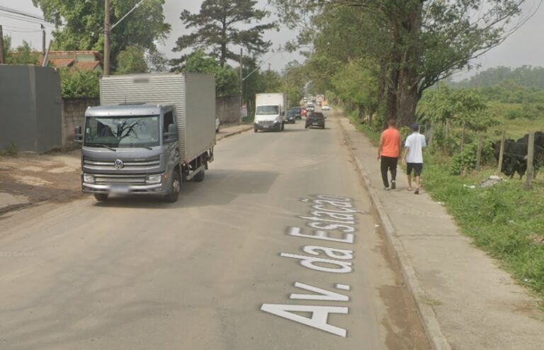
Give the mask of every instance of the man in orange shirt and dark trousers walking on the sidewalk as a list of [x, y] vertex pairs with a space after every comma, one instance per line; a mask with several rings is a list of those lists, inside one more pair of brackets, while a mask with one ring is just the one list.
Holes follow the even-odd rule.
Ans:
[[380, 147], [378, 147], [378, 160], [382, 160], [382, 179], [386, 191], [389, 190], [387, 171], [391, 171], [391, 189], [397, 188], [397, 162], [399, 161], [401, 147], [402, 140], [400, 132], [397, 130], [397, 121], [389, 120], [387, 129], [382, 132]]

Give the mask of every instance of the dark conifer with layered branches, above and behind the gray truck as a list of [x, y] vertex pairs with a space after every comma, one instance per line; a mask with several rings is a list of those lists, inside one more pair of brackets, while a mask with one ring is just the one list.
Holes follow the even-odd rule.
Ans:
[[[227, 60], [239, 60], [239, 54], [232, 51], [232, 45], [242, 46], [254, 56], [261, 55], [272, 45], [270, 41], [263, 40], [263, 33], [275, 28], [276, 24], [246, 28], [268, 16], [267, 11], [255, 9], [256, 4], [254, 0], [204, 0], [200, 12], [183, 11], [181, 21], [192, 32], [178, 38], [174, 52], [189, 47], [205, 50], [217, 58], [221, 67], [225, 67]], [[175, 62], [181, 64], [185, 59], [183, 56]]]

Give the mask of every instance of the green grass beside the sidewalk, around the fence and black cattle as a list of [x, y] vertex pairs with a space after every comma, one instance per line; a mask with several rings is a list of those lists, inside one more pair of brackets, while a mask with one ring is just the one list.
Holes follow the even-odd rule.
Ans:
[[[359, 131], [378, 144], [379, 132], [358, 123], [353, 113], [348, 116]], [[528, 128], [544, 130], [544, 120], [502, 121], [495, 130], [506, 128], [510, 137], [521, 137]], [[493, 130], [491, 135], [495, 135]], [[481, 188], [482, 181], [497, 174], [496, 164], [467, 176], [455, 176], [450, 174], [450, 157], [427, 151], [425, 162], [422, 185], [434, 200], [444, 203], [461, 232], [497, 258], [521, 285], [544, 297], [544, 174], [529, 191], [523, 188], [525, 181], [517, 177]], [[472, 185], [475, 188], [468, 187]]]

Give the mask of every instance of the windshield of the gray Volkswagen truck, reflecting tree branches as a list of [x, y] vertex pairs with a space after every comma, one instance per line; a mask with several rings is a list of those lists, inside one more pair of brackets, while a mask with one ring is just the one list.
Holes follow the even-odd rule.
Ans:
[[159, 145], [159, 115], [86, 119], [85, 146], [150, 147]]

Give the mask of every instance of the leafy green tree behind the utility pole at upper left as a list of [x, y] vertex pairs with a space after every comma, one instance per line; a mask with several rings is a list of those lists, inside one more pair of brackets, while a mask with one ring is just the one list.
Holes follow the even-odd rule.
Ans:
[[[103, 0], [32, 0], [47, 21], [55, 23], [54, 50], [96, 50], [103, 52]], [[138, 1], [111, 1], [111, 22], [117, 22]], [[157, 40], [166, 39], [170, 25], [164, 22], [164, 0], [144, 1], [111, 33], [112, 65], [119, 52], [130, 45], [154, 51]]]

